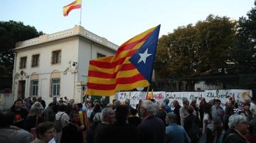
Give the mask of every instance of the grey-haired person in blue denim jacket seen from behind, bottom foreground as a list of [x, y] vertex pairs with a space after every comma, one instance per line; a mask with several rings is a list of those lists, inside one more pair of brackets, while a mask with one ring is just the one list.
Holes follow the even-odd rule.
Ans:
[[188, 137], [186, 131], [177, 125], [177, 115], [175, 113], [167, 113], [166, 115], [166, 143], [190, 143], [191, 139]]

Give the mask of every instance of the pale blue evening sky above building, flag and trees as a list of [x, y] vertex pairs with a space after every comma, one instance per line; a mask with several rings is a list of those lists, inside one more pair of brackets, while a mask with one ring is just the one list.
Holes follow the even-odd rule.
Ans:
[[196, 24], [209, 14], [238, 20], [254, 0], [82, 0], [82, 9], [63, 16], [75, 0], [0, 0], [0, 21], [21, 21], [51, 34], [80, 24], [117, 45], [161, 24], [159, 37], [178, 26]]

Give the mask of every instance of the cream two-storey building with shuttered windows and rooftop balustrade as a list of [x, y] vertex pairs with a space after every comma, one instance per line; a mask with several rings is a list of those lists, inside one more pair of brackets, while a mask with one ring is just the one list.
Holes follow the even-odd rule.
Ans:
[[114, 55], [118, 45], [80, 25], [50, 35], [18, 42], [14, 59], [13, 94], [82, 101], [90, 59]]

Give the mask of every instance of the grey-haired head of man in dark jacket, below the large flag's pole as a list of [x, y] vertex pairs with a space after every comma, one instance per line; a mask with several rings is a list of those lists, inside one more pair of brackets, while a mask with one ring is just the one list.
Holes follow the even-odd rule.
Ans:
[[154, 103], [152, 101], [146, 100], [142, 101], [142, 105], [139, 111], [142, 114], [142, 117], [146, 118], [148, 116], [154, 115], [155, 110], [156, 108], [154, 106]]

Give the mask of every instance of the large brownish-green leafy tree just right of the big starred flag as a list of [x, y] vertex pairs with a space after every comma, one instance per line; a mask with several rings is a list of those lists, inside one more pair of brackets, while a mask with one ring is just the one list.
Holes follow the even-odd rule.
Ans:
[[155, 70], [159, 78], [228, 74], [235, 22], [210, 15], [196, 25], [178, 27], [159, 39]]

